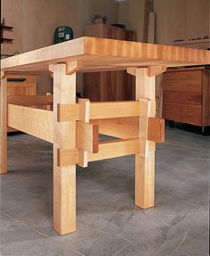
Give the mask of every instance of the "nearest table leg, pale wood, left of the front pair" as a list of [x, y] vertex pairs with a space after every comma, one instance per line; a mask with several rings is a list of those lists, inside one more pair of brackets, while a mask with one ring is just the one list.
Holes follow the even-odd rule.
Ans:
[[76, 231], [76, 165], [58, 167], [58, 149], [76, 147], [76, 121], [57, 122], [58, 103], [76, 103], [76, 73], [66, 64], [53, 68], [53, 228], [60, 234]]

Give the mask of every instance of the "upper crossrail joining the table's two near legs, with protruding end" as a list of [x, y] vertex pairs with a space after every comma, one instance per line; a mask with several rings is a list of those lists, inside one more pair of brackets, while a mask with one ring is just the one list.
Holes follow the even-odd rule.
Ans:
[[[78, 120], [78, 104], [58, 104], [58, 121]], [[137, 117], [138, 101], [91, 103], [90, 120]]]

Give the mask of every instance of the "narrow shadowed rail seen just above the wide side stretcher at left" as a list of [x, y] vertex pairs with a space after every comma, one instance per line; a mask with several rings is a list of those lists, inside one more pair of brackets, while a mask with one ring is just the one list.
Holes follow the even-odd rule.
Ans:
[[44, 106], [53, 103], [52, 95], [7, 96], [7, 103], [21, 106]]

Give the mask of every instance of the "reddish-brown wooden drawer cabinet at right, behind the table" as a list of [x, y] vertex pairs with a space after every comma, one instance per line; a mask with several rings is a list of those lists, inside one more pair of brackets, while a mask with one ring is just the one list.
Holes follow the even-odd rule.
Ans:
[[163, 118], [210, 126], [209, 67], [168, 70], [163, 90]]

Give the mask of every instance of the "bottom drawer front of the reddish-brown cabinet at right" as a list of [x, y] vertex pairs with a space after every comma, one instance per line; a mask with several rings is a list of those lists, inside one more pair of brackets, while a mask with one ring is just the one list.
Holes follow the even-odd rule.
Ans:
[[163, 118], [201, 126], [201, 107], [176, 103], [164, 103]]

